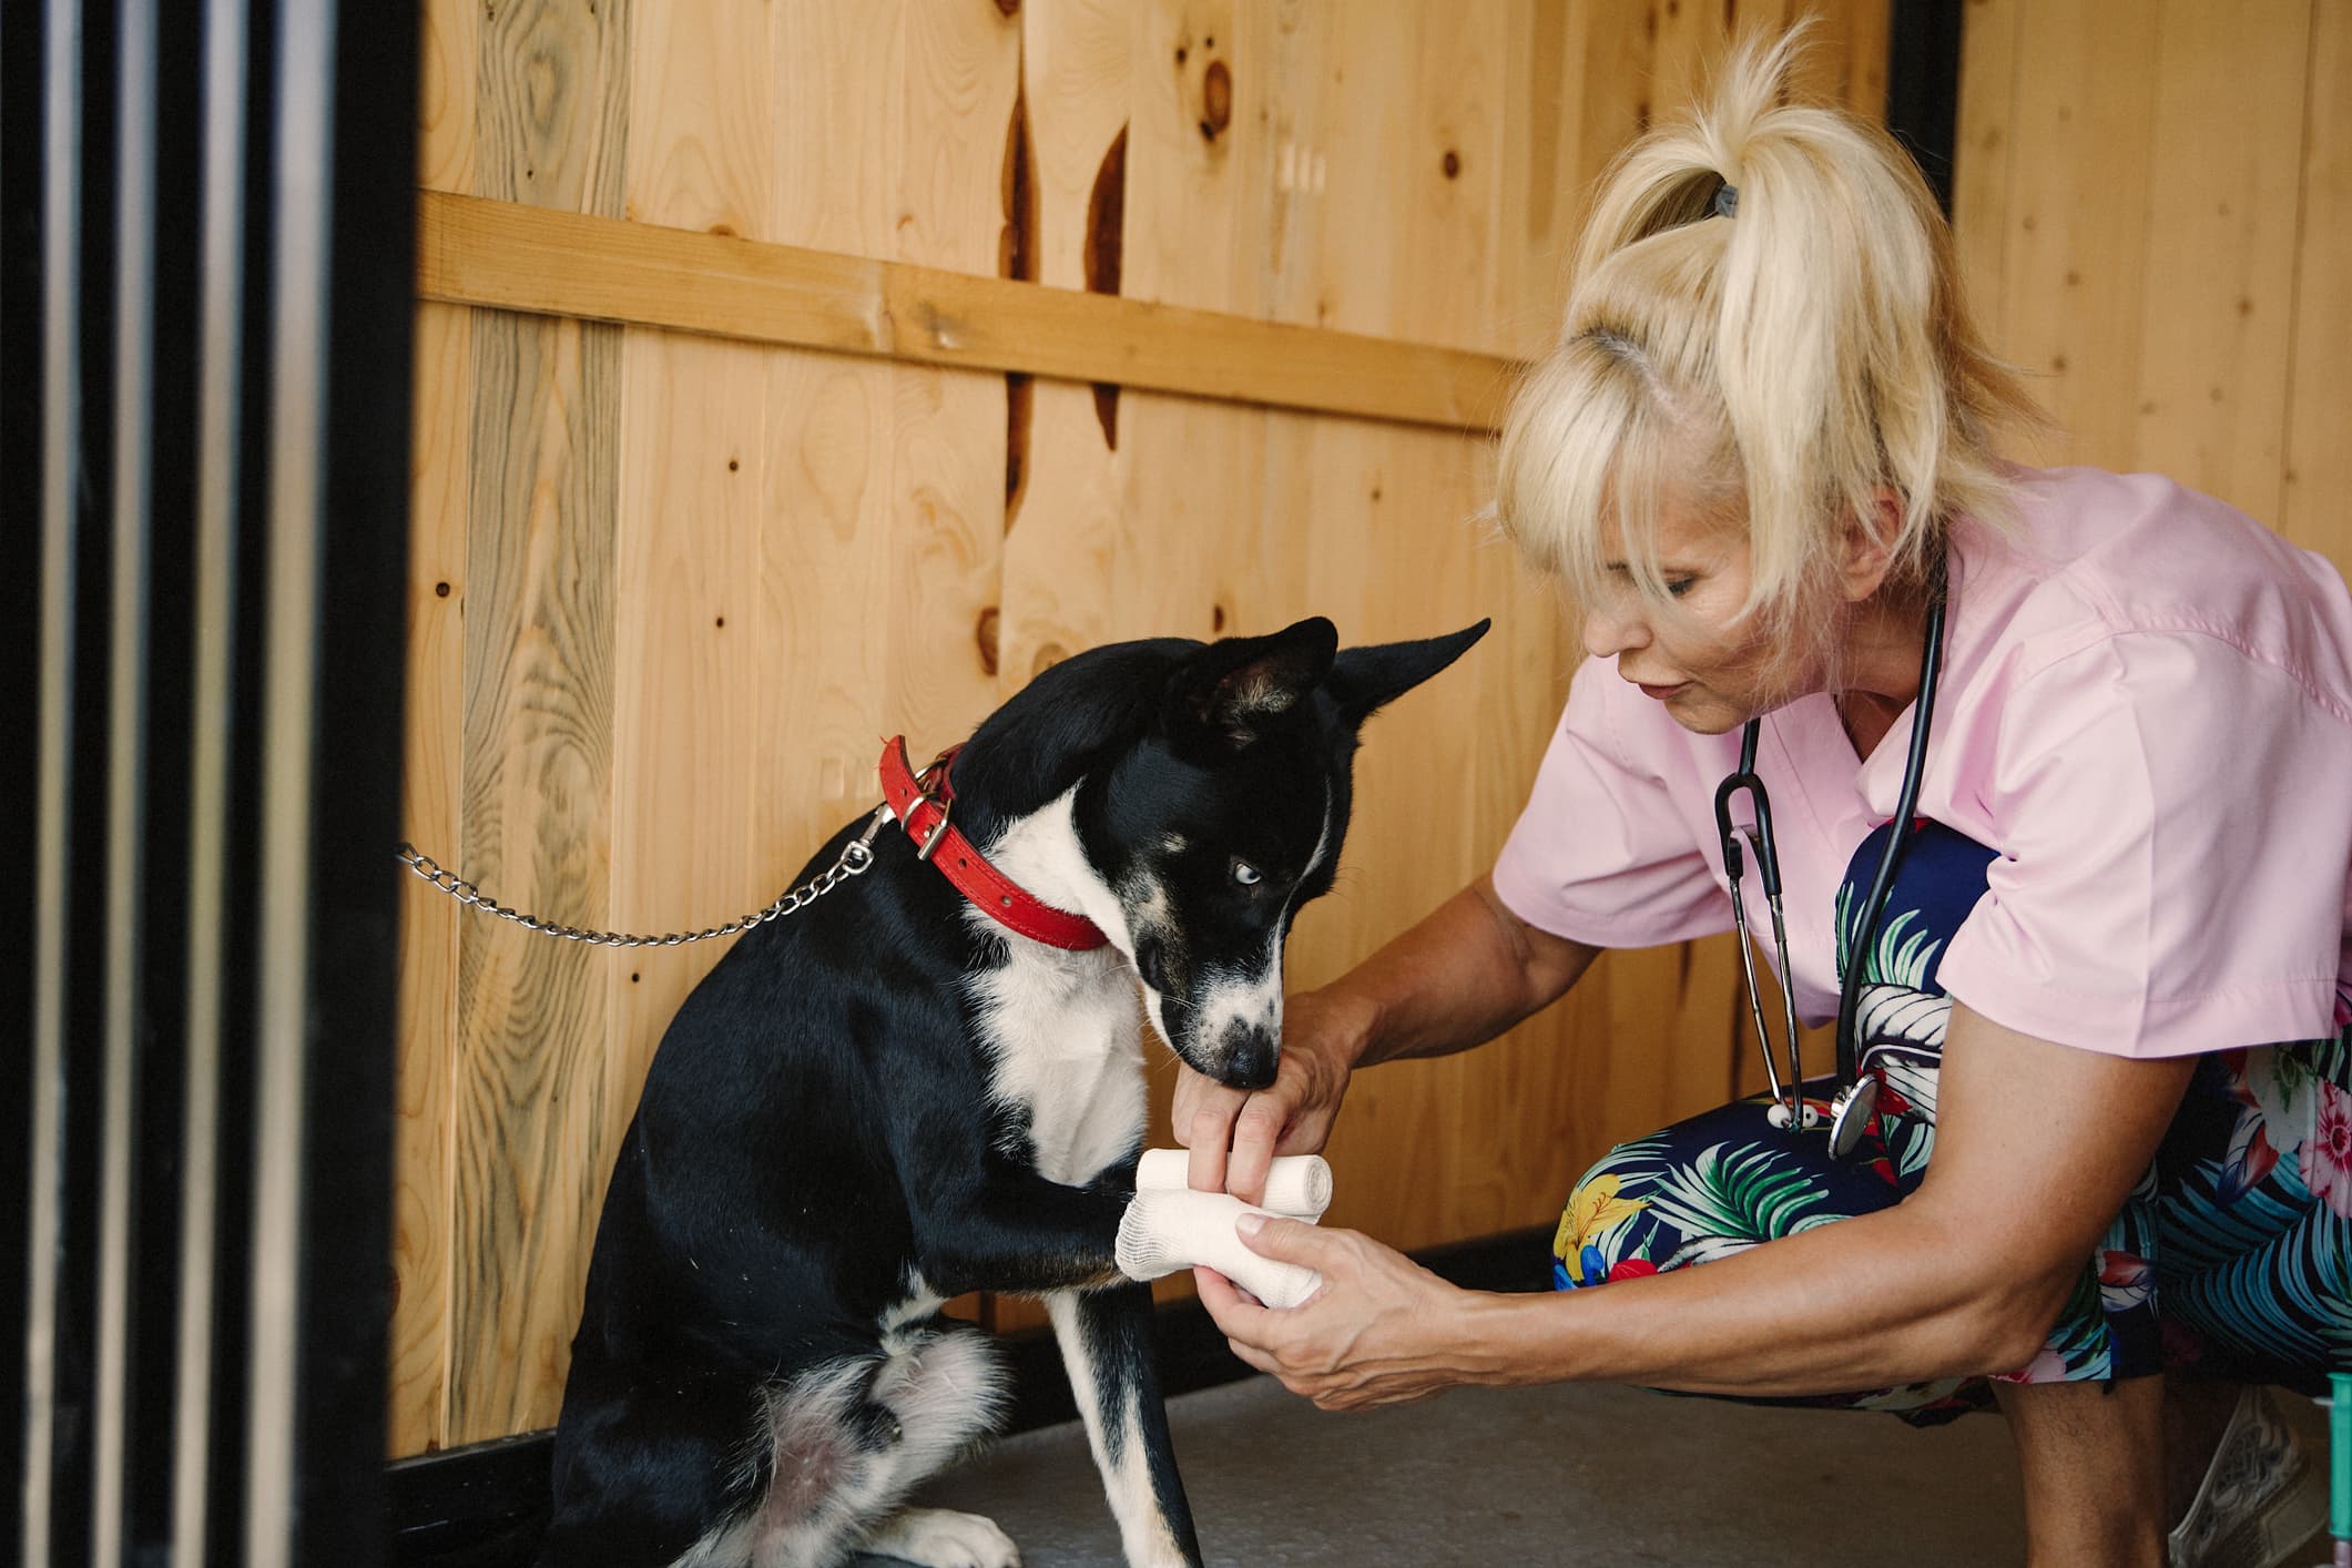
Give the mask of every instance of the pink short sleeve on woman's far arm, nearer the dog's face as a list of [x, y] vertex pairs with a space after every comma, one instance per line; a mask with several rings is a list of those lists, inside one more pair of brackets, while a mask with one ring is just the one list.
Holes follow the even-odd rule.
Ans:
[[1585, 661], [1494, 867], [1526, 924], [1592, 947], [1653, 947], [1731, 926], [1731, 896], [1675, 809], [1658, 766], [1635, 762], [1609, 715], [1606, 661]]

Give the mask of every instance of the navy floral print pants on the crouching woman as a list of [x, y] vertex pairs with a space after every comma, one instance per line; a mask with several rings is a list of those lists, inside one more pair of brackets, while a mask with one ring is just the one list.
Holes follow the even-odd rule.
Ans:
[[[1856, 882], [1877, 865], [1879, 844], [1872, 835], [1849, 870], [1842, 947]], [[1863, 959], [1860, 1039], [1879, 1110], [1849, 1159], [1832, 1159], [1820, 1131], [1771, 1126], [1766, 1098], [1625, 1143], [1569, 1199], [1552, 1244], [1555, 1286], [1708, 1262], [1910, 1197], [1936, 1150], [1950, 1016], [1936, 961], [1983, 893], [1990, 858], [1933, 823], [1905, 851]], [[1851, 959], [1842, 952], [1839, 961]], [[1809, 1095], [1825, 1110], [1832, 1088], [1823, 1079]], [[1997, 1378], [2112, 1380], [2166, 1366], [2310, 1389], [2352, 1366], [2352, 1027], [2201, 1058], [2154, 1164], [2086, 1260], [2042, 1354]], [[1790, 1403], [1933, 1425], [1987, 1406], [1992, 1380]]]

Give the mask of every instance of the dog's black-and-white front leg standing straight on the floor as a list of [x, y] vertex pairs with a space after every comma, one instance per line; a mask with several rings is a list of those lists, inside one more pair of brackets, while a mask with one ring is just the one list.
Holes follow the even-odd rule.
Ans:
[[1192, 1509], [1176, 1476], [1169, 1415], [1152, 1368], [1150, 1286], [1056, 1291], [1044, 1305], [1127, 1561], [1138, 1568], [1200, 1563]]

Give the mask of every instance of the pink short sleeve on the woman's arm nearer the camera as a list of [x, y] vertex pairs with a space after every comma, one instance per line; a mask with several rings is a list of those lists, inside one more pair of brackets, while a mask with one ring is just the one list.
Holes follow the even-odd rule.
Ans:
[[2114, 1056], [2333, 1032], [2352, 724], [2194, 632], [2124, 632], [2009, 691], [1985, 898], [1943, 987]]

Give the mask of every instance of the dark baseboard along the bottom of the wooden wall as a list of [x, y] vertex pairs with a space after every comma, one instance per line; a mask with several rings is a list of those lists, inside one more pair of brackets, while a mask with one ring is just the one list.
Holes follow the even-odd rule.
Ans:
[[[1552, 1274], [1548, 1229], [1456, 1241], [1414, 1258], [1470, 1291], [1543, 1291]], [[1251, 1375], [1192, 1300], [1167, 1305], [1152, 1316], [1152, 1347], [1167, 1394]], [[1007, 1335], [1004, 1359], [1014, 1373], [1007, 1432], [1077, 1420], [1051, 1333], [1037, 1328]], [[548, 1450], [546, 1432], [527, 1432], [390, 1465], [388, 1561], [397, 1568], [527, 1568], [548, 1521]]]

